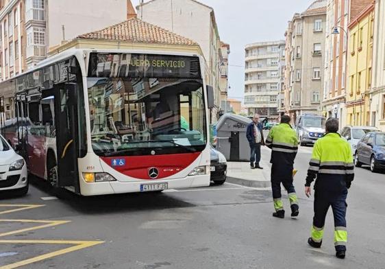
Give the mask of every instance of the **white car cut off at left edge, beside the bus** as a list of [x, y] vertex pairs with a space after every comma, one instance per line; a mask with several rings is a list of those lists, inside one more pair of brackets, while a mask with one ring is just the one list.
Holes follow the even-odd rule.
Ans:
[[28, 192], [27, 164], [0, 135], [0, 191]]

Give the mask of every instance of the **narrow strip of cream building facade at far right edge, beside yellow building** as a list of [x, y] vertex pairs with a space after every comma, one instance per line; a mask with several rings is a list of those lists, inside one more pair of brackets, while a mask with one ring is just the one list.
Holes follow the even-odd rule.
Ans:
[[375, 1], [371, 125], [385, 132], [385, 1]]

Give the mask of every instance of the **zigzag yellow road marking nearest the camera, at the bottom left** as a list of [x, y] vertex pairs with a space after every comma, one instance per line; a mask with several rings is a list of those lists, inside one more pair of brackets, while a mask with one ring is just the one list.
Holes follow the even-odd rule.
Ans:
[[25, 266], [27, 264], [32, 264], [36, 261], [42, 261], [44, 259], [49, 259], [55, 256], [63, 255], [66, 253], [71, 253], [76, 250], [81, 250], [82, 248], [88, 248], [90, 246], [95, 246], [97, 244], [102, 244], [104, 241], [69, 241], [69, 240], [0, 240], [0, 244], [74, 244], [76, 246], [71, 246], [69, 248], [64, 248], [62, 250], [56, 250], [52, 253], [47, 253], [44, 255], [36, 256], [30, 259], [24, 259], [23, 261], [17, 261], [14, 264], [8, 264], [1, 266], [0, 269], [13, 269], [20, 266]]

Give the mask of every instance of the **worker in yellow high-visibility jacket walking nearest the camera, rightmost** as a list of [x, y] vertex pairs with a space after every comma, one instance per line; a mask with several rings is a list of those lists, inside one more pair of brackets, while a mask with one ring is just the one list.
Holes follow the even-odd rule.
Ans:
[[338, 119], [328, 119], [326, 134], [314, 144], [312, 159], [306, 178], [305, 194], [310, 196], [310, 184], [314, 184], [314, 218], [308, 244], [321, 248], [323, 227], [327, 209], [332, 207], [334, 215], [334, 246], [336, 256], [345, 258], [347, 244], [346, 209], [347, 189], [354, 178], [351, 146], [338, 134]]

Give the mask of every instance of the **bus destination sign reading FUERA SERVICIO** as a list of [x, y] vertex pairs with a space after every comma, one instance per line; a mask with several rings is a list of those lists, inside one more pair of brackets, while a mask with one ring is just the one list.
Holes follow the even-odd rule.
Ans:
[[93, 78], [200, 78], [199, 58], [161, 54], [92, 53]]

